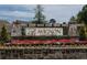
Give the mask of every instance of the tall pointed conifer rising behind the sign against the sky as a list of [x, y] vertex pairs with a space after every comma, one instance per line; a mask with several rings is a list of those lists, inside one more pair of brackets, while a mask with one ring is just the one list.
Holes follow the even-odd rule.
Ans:
[[34, 23], [45, 23], [45, 15], [43, 14], [42, 6], [37, 4], [35, 9]]

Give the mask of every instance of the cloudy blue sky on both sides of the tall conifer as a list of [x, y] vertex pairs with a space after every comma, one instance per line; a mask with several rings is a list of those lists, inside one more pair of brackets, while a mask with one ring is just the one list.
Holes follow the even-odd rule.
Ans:
[[[14, 20], [31, 21], [34, 18], [35, 4], [0, 4], [0, 19], [10, 22]], [[44, 14], [46, 20], [55, 19], [57, 22], [67, 22], [83, 8], [81, 4], [45, 4]]]

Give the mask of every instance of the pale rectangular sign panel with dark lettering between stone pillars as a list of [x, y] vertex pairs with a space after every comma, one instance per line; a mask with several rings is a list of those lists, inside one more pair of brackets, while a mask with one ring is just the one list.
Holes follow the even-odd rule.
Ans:
[[26, 28], [28, 36], [53, 36], [63, 35], [63, 28]]

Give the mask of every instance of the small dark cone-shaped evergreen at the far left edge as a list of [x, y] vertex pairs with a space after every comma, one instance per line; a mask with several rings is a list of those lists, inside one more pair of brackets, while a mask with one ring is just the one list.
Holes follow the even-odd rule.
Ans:
[[6, 26], [3, 25], [1, 29], [1, 41], [4, 43], [4, 42], [8, 42], [9, 40], [10, 40], [10, 35], [7, 32]]

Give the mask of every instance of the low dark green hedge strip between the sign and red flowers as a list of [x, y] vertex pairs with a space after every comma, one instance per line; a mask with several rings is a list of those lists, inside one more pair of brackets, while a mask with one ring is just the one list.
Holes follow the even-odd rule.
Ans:
[[55, 40], [55, 39], [70, 39], [70, 36], [12, 36], [13, 40]]

